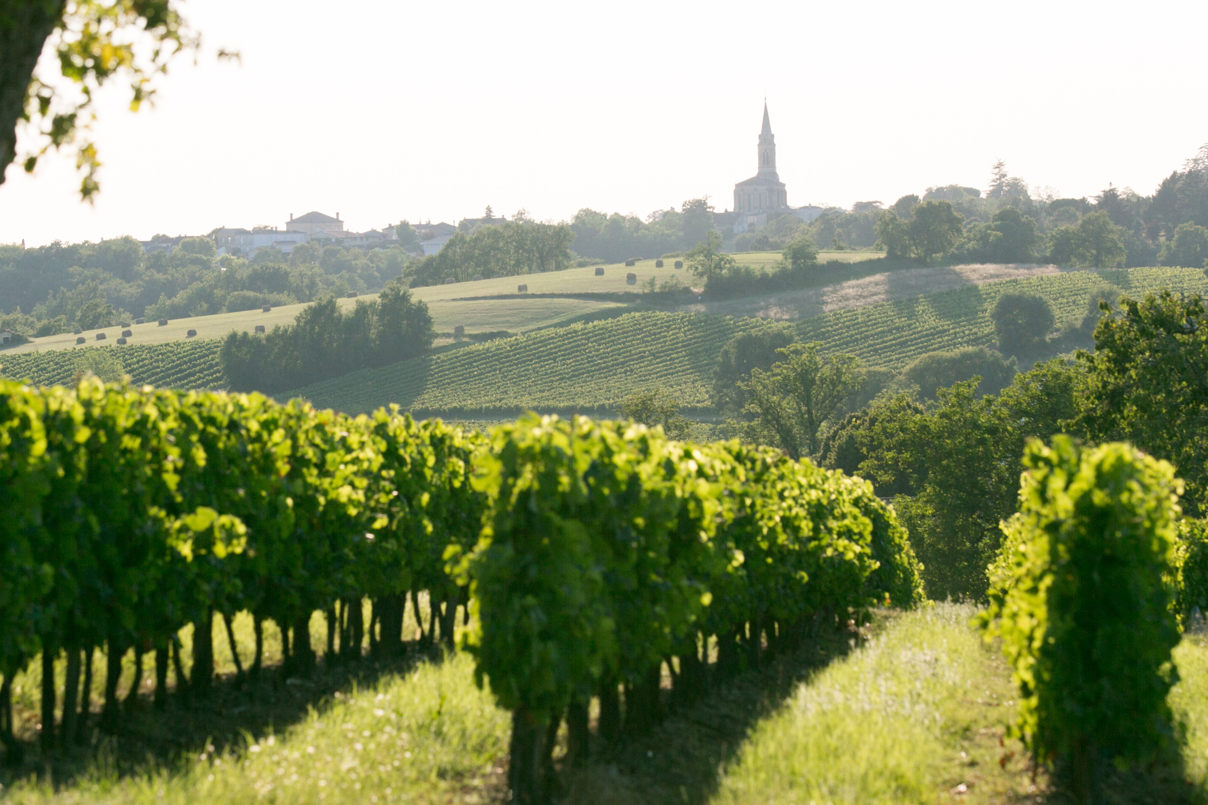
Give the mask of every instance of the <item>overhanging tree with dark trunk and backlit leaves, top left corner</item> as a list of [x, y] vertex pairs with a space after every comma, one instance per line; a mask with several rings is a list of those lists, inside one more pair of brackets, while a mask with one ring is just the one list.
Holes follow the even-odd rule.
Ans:
[[[98, 191], [100, 161], [89, 138], [93, 94], [109, 80], [129, 80], [130, 109], [155, 95], [156, 74], [182, 49], [196, 49], [198, 37], [188, 30], [173, 0], [65, 0], [8, 1], [0, 5], [0, 183], [17, 158], [17, 128], [24, 122], [37, 133], [41, 147], [22, 156], [27, 173], [51, 147], [69, 148], [85, 169], [80, 196], [91, 200]], [[54, 64], [75, 92], [63, 82], [36, 72], [47, 43]], [[227, 56], [220, 52], [220, 56]]]

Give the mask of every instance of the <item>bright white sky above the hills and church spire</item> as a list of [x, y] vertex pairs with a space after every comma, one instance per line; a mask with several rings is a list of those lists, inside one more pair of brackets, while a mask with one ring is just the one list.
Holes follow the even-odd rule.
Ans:
[[[0, 185], [0, 243], [635, 212], [755, 173], [794, 206], [985, 188], [1151, 193], [1208, 141], [1203, 2], [191, 0], [209, 49], [153, 110], [105, 93], [94, 206], [65, 156]], [[1198, 31], [1192, 35], [1192, 31]], [[217, 63], [214, 49], [243, 54]], [[115, 88], [116, 89], [116, 88]]]

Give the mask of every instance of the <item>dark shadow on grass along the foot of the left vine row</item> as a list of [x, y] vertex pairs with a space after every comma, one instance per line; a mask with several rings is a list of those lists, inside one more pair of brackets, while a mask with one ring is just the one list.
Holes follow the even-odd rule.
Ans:
[[337, 655], [331, 663], [319, 661], [306, 677], [286, 677], [279, 665], [266, 666], [259, 679], [215, 676], [213, 690], [204, 698], [173, 690], [163, 710], [155, 707], [151, 694], [143, 693], [122, 704], [114, 730], [101, 730], [100, 713], [93, 711], [81, 730], [83, 740], [65, 751], [43, 753], [36, 740], [22, 741], [23, 762], [0, 764], [0, 783], [7, 787], [14, 780], [37, 777], [65, 786], [98, 764], [124, 777], [180, 768], [203, 752], [221, 754], [228, 747], [242, 747], [246, 736], [257, 740], [284, 733], [312, 708], [441, 657], [440, 647], [422, 648], [417, 642], [403, 647], [402, 658], [390, 661], [367, 657], [349, 661]]

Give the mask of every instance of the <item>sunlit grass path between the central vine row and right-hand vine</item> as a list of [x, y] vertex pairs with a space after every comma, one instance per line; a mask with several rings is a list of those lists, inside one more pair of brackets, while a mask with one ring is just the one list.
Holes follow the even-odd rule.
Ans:
[[999, 746], [1015, 713], [1010, 678], [969, 628], [972, 613], [941, 603], [890, 619], [753, 730], [714, 801], [922, 805], [1026, 792], [1018, 760], [1003, 758], [1011, 742]]

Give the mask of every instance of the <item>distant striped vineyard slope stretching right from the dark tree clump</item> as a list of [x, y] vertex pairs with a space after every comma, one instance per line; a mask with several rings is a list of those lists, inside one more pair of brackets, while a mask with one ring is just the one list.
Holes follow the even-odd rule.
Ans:
[[[1076, 327], [1092, 288], [1110, 281], [1142, 294], [1169, 287], [1208, 293], [1203, 272], [1143, 268], [1069, 272], [1004, 280], [883, 302], [796, 322], [802, 340], [858, 355], [867, 366], [904, 368], [919, 355], [994, 344], [989, 317], [1006, 292], [1039, 293], [1063, 327]], [[399, 403], [405, 409], [471, 416], [539, 410], [614, 410], [628, 395], [666, 389], [689, 412], [708, 408], [721, 346], [760, 319], [637, 313], [467, 346], [298, 389], [320, 408], [348, 413]]]

